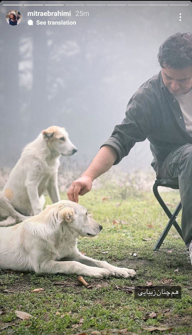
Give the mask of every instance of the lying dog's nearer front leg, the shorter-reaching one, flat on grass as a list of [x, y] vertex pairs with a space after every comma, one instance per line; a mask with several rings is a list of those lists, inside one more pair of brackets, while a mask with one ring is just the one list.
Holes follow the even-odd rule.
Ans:
[[47, 261], [34, 270], [38, 273], [77, 274], [94, 278], [108, 278], [110, 276], [110, 272], [104, 268], [87, 266], [76, 261]]

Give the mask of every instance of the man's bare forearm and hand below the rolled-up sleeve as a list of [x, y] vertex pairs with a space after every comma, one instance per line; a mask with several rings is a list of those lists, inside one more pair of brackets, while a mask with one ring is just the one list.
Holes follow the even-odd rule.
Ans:
[[78, 202], [78, 196], [89, 192], [94, 179], [108, 171], [116, 159], [116, 150], [109, 145], [103, 146], [83, 175], [71, 184], [67, 193], [68, 199]]

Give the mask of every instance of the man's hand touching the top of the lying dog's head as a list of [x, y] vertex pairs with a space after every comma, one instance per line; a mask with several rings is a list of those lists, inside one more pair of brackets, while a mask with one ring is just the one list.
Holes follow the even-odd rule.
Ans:
[[82, 176], [81, 178], [74, 180], [67, 193], [68, 199], [78, 202], [78, 196], [89, 192], [92, 188], [92, 183], [93, 180], [87, 176]]

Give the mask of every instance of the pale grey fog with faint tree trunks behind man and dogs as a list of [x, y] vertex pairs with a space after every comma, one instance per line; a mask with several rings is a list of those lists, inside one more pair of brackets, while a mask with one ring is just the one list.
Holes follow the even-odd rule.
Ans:
[[[99, 6], [115, 1], [55, 1], [77, 6], [3, 6], [0, 3], [0, 167], [12, 168], [22, 148], [45, 128], [65, 127], [88, 163], [122, 122], [139, 86], [160, 71], [159, 46], [176, 32], [192, 32], [191, 2], [182, 6]], [[12, 4], [35, 4], [13, 1]], [[51, 1], [38, 1], [38, 4]], [[88, 6], [88, 4], [97, 6]], [[118, 1], [118, 4], [180, 4], [180, 1]], [[78, 6], [87, 4], [87, 6]], [[184, 6], [184, 4], [190, 4]], [[6, 22], [20, 11], [17, 26]], [[69, 11], [71, 17], [27, 17], [27, 11]], [[75, 11], [89, 12], [76, 17]], [[179, 21], [182, 13], [182, 21]], [[27, 21], [33, 20], [33, 26]], [[71, 20], [76, 25], [36, 25], [36, 20]], [[119, 163], [123, 170], [147, 170], [149, 141], [136, 143]], [[152, 167], [151, 170], [153, 171]]]

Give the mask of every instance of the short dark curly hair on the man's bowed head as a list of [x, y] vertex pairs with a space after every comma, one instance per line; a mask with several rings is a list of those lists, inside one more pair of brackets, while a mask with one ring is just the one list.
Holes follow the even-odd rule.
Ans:
[[184, 69], [192, 66], [192, 34], [177, 32], [159, 47], [158, 61], [162, 68]]

